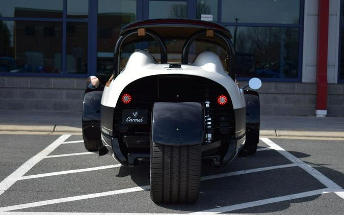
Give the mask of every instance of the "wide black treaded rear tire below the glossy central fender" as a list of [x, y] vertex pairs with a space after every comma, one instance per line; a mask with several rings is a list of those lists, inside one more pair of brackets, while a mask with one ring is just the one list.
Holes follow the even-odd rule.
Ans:
[[155, 203], [192, 203], [198, 199], [201, 144], [151, 144], [150, 198]]

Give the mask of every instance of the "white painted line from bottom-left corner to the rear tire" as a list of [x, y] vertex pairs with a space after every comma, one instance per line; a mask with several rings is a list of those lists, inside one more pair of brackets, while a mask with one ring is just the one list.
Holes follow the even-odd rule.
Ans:
[[137, 186], [137, 187], [116, 190], [116, 191], [86, 194], [86, 195], [81, 195], [81, 196], [72, 196], [72, 197], [67, 197], [67, 198], [51, 199], [51, 200], [32, 202], [32, 203], [27, 203], [27, 204], [13, 205], [13, 206], [8, 206], [8, 207], [0, 207], [0, 212], [9, 211], [9, 210], [19, 210], [19, 209], [31, 208], [31, 207], [39, 207], [43, 205], [57, 204], [57, 203], [63, 203], [63, 202], [71, 202], [71, 201], [77, 201], [77, 200], [83, 200], [83, 199], [91, 199], [91, 198], [97, 198], [97, 197], [103, 197], [103, 196], [112, 196], [112, 195], [118, 195], [118, 194], [124, 194], [124, 193], [147, 191], [147, 190], [149, 190], [149, 186]]

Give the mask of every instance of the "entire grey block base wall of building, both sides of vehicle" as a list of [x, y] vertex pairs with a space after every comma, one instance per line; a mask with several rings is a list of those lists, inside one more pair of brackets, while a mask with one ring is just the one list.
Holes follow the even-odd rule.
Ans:
[[[82, 110], [86, 78], [0, 77], [0, 110]], [[241, 83], [246, 86], [246, 82]], [[315, 83], [263, 82], [261, 115], [314, 116]], [[344, 116], [344, 84], [329, 84], [327, 115]]]

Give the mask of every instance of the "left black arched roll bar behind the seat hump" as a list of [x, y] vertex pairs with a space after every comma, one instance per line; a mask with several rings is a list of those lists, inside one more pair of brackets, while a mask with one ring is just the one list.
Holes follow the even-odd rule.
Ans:
[[[118, 38], [116, 46], [115, 46], [115, 51], [114, 51], [114, 71], [113, 71], [113, 74], [115, 77], [120, 72], [120, 52], [121, 52], [121, 47], [122, 47], [123, 42], [128, 37], [133, 36], [135, 34], [141, 36], [139, 30], [140, 29], [128, 31], [124, 35], [121, 35]], [[149, 35], [157, 42], [157, 44], [160, 47], [161, 63], [166, 64], [167, 63], [167, 49], [166, 49], [166, 45], [165, 45], [164, 41], [162, 41], [160, 39], [160, 37], [158, 37], [157, 34], [151, 30], [145, 29], [143, 35]]]

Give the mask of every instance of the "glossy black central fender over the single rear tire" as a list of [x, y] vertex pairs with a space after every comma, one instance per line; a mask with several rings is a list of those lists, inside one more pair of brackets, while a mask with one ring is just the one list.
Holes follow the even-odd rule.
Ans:
[[204, 107], [199, 102], [155, 102], [151, 141], [170, 146], [204, 142]]

